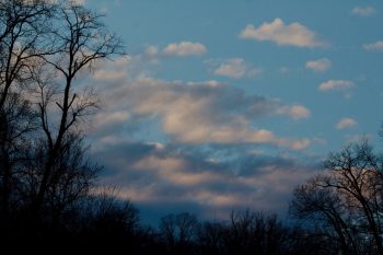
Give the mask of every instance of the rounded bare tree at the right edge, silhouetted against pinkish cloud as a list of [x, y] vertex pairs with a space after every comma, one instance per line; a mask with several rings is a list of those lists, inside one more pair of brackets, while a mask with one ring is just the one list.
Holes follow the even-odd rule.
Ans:
[[346, 254], [382, 250], [382, 158], [368, 141], [330, 153], [327, 172], [294, 190], [292, 212], [330, 227]]

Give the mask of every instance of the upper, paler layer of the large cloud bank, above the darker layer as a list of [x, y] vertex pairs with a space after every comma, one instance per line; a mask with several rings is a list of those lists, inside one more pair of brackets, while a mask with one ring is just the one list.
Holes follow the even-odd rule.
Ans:
[[[106, 65], [104, 69], [118, 70], [119, 65], [114, 62], [111, 67]], [[129, 68], [127, 69], [129, 73]], [[105, 112], [116, 117], [109, 125], [94, 125], [93, 132], [105, 135], [106, 141], [118, 140], [106, 135], [107, 130], [118, 134], [115, 131], [117, 126], [137, 127], [140, 139], [148, 139], [140, 135], [142, 130], [147, 130], [183, 143], [255, 143], [295, 149], [293, 143], [301, 141], [279, 137], [272, 130], [254, 126], [256, 119], [275, 116], [283, 107], [276, 98], [246, 95], [241, 89], [217, 81], [182, 82], [128, 76], [124, 80], [112, 77], [109, 82], [105, 82], [98, 76], [94, 78], [100, 82], [102, 101], [108, 106]], [[118, 123], [120, 118], [117, 117], [121, 113], [129, 116], [125, 125]], [[309, 115], [302, 106], [294, 106], [279, 114], [293, 119]], [[102, 118], [103, 116], [100, 117]]]

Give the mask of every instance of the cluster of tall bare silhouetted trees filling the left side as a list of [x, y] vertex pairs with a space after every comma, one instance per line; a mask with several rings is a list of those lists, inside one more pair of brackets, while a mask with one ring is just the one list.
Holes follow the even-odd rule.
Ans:
[[38, 234], [65, 229], [63, 219], [91, 195], [101, 167], [85, 155], [81, 124], [97, 98], [76, 80], [123, 49], [101, 20], [74, 1], [0, 1], [4, 235], [18, 232], [15, 225]]

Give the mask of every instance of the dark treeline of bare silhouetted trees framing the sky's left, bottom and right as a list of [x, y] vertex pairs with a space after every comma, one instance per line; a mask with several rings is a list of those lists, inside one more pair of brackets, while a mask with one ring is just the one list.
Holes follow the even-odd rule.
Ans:
[[73, 1], [0, 0], [2, 247], [383, 255], [383, 160], [367, 141], [329, 154], [323, 173], [294, 189], [288, 222], [247, 210], [222, 221], [185, 212], [163, 217], [158, 228], [142, 224], [132, 204], [97, 186], [102, 167], [83, 141], [98, 101], [77, 81], [120, 54], [102, 16]]

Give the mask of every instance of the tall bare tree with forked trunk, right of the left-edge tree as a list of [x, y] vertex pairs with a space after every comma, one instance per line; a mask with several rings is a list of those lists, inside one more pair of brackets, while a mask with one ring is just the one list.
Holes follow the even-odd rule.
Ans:
[[[36, 216], [58, 176], [67, 176], [58, 167], [66, 142], [72, 134], [81, 131], [83, 118], [97, 106], [93, 90], [88, 88], [81, 92], [76, 88], [76, 78], [97, 60], [121, 53], [120, 39], [106, 30], [101, 16], [72, 1], [56, 7], [53, 24], [48, 35], [55, 46], [54, 54], [40, 58], [49, 72], [46, 74], [43, 68], [43, 74], [54, 79], [48, 79], [49, 82], [39, 79], [37, 86], [46, 160], [33, 201]], [[58, 175], [58, 172], [62, 174]]]

